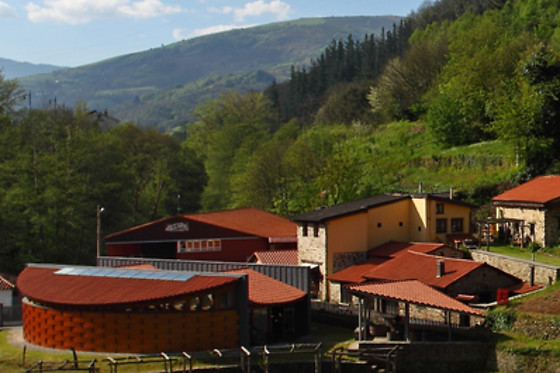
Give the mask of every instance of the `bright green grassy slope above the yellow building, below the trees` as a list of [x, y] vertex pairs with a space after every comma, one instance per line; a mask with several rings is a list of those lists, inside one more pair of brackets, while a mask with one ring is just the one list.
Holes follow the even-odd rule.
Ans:
[[472, 193], [518, 172], [511, 146], [501, 141], [442, 149], [422, 122], [391, 123], [375, 133], [375, 162], [385, 175], [388, 191], [456, 191]]

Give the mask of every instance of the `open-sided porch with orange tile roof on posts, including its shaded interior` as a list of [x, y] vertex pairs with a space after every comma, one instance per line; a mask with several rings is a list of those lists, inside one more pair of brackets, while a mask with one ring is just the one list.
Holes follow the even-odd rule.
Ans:
[[410, 342], [464, 337], [485, 314], [417, 280], [351, 285], [358, 298], [356, 340]]

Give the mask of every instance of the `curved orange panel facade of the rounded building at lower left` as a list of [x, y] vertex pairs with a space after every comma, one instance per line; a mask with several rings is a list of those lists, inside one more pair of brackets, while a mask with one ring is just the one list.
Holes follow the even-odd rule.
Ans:
[[236, 310], [66, 311], [23, 302], [24, 338], [43, 347], [157, 353], [239, 346]]

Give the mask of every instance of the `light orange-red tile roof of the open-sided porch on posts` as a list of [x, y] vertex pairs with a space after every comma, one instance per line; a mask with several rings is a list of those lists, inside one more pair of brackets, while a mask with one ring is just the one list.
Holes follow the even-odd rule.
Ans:
[[484, 316], [484, 313], [416, 280], [359, 284], [348, 288], [351, 292], [357, 294], [373, 295], [469, 315]]

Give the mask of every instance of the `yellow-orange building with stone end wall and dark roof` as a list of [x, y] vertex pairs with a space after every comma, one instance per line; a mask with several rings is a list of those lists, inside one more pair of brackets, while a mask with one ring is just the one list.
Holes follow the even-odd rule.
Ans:
[[468, 234], [473, 206], [451, 194], [381, 194], [317, 209], [297, 223], [298, 260], [315, 265], [318, 297], [329, 299], [326, 276], [367, 259], [368, 250], [389, 241], [442, 242]]

